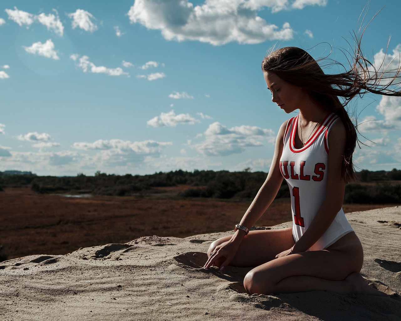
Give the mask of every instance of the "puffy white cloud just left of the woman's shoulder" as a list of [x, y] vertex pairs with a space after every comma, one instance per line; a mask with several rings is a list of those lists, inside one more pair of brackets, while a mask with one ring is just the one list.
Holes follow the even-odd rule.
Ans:
[[245, 125], [227, 128], [219, 122], [209, 125], [204, 135], [205, 141], [195, 144], [194, 147], [206, 156], [241, 153], [247, 147], [263, 146], [260, 142], [262, 139], [267, 139], [270, 143], [275, 141], [275, 135], [271, 129]]

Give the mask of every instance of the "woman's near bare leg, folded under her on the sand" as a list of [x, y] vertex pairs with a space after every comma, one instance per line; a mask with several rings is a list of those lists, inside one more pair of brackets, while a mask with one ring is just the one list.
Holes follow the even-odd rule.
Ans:
[[387, 296], [369, 287], [360, 276], [362, 262], [362, 246], [352, 232], [326, 250], [291, 254], [261, 264], [245, 276], [244, 286], [251, 294], [320, 290]]

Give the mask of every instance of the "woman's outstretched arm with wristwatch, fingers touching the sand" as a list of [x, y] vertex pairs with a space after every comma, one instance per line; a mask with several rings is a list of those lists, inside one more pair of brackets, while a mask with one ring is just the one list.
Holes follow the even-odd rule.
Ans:
[[[259, 189], [255, 199], [253, 199], [251, 205], [245, 212], [240, 224], [246, 228], [251, 228], [255, 222], [262, 216], [266, 211], [267, 207], [271, 204], [280, 185], [283, 181], [283, 176], [280, 172], [280, 157], [283, 151], [283, 140], [286, 131], [288, 121], [284, 122], [280, 127], [279, 133], [277, 134], [274, 156], [269, 170], [269, 174], [262, 187]], [[221, 257], [225, 257], [225, 261], [221, 264], [221, 269], [227, 266], [237, 253], [238, 247], [241, 244], [243, 238], [245, 237], [245, 232], [243, 230], [237, 230], [231, 240], [225, 242], [215, 248], [214, 255], [210, 256], [205, 263], [204, 268], [209, 268], [216, 260]]]

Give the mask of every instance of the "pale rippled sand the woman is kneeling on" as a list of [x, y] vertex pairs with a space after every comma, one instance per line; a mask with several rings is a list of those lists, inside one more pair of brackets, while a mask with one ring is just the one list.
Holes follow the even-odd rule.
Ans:
[[230, 231], [142, 237], [1, 262], [0, 319], [401, 320], [401, 208], [346, 216], [365, 251], [362, 276], [390, 298], [324, 291], [241, 293], [248, 268], [201, 269], [209, 244]]

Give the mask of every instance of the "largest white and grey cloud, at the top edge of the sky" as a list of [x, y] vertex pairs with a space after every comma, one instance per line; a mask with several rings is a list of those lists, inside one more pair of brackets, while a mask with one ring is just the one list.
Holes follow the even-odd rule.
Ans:
[[272, 12], [326, 5], [326, 0], [206, 0], [194, 6], [188, 0], [136, 0], [128, 11], [132, 23], [161, 30], [167, 40], [197, 40], [212, 45], [231, 41], [255, 44], [266, 40], [290, 40], [288, 22], [282, 28], [258, 16], [265, 7]]

